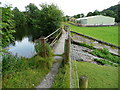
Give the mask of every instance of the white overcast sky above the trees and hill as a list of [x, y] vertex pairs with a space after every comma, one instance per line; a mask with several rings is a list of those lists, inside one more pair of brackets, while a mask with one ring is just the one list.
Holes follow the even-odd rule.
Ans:
[[96, 9], [102, 11], [110, 6], [117, 5], [119, 0], [0, 0], [0, 2], [12, 4], [13, 7], [18, 7], [21, 11], [24, 11], [25, 6], [29, 3], [34, 3], [38, 8], [41, 3], [54, 3], [65, 15], [73, 16], [80, 13], [86, 15]]

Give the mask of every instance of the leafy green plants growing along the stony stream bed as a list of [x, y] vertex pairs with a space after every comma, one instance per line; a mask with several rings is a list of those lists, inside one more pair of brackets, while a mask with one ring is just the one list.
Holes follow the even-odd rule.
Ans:
[[[89, 52], [95, 56], [98, 56], [98, 57], [101, 57], [101, 58], [104, 58], [104, 59], [107, 59], [107, 60], [110, 60], [112, 63], [110, 62], [107, 62], [107, 61], [104, 61], [104, 60], [98, 60], [98, 59], [95, 59], [95, 61], [98, 61], [98, 62], [101, 62], [103, 64], [109, 64], [109, 65], [112, 65], [113, 63], [117, 63], [119, 64], [120, 63], [120, 57], [119, 56], [115, 56], [115, 55], [112, 55], [108, 49], [106, 48], [103, 48], [103, 49], [95, 49], [93, 46], [91, 45], [88, 45], [88, 44], [84, 44], [84, 43], [75, 43], [74, 44], [77, 44], [77, 45], [80, 45], [80, 46], [83, 46], [83, 47], [87, 47], [89, 49], [92, 49], [93, 51], [92, 52]], [[116, 65], [114, 65], [116, 66]]]

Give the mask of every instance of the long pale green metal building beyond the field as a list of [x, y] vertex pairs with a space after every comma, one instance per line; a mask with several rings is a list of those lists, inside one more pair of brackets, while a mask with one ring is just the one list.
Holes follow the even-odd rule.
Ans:
[[96, 15], [96, 16], [78, 18], [76, 19], [75, 22], [81, 25], [114, 25], [115, 18]]

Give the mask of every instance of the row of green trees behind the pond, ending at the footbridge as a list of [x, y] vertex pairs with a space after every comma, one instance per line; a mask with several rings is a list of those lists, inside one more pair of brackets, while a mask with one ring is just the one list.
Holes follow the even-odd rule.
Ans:
[[30, 3], [25, 7], [26, 11], [24, 12], [15, 7], [12, 10], [15, 26], [32, 26], [40, 30], [43, 36], [47, 36], [58, 29], [63, 20], [62, 11], [54, 4], [40, 4], [40, 7], [41, 9], [38, 9], [35, 4]]

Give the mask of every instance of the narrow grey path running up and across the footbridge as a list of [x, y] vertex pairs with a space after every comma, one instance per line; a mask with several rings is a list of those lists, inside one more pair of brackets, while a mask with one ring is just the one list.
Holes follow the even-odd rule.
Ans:
[[[60, 37], [58, 44], [56, 45], [56, 48], [54, 49], [54, 54], [63, 54], [64, 53], [64, 44], [65, 44], [65, 39], [67, 38], [68, 34], [62, 30], [62, 36]], [[62, 57], [60, 56], [55, 56], [55, 60], [62, 60]], [[58, 72], [58, 68], [60, 66], [60, 61], [56, 62], [53, 64], [51, 71], [45, 76], [43, 81], [40, 83], [39, 86], [36, 88], [51, 88], [52, 83], [54, 81], [54, 78]]]

